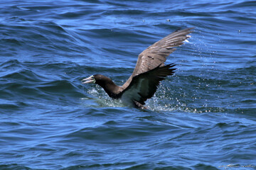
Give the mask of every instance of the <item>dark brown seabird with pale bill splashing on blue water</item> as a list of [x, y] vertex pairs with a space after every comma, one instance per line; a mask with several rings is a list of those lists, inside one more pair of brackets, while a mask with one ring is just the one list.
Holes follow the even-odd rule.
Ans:
[[147, 47], [139, 54], [134, 72], [122, 86], [117, 86], [109, 77], [101, 74], [82, 79], [82, 84], [98, 84], [111, 98], [121, 98], [130, 107], [145, 108], [145, 101], [154, 95], [160, 81], [174, 74], [175, 64], [164, 65], [166, 57], [176, 50], [175, 47], [183, 45], [191, 37], [188, 34], [192, 29], [176, 30]]

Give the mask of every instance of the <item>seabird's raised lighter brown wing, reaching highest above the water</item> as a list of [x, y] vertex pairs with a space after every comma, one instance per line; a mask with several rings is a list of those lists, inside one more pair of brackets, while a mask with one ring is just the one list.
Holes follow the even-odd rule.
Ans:
[[147, 72], [156, 67], [163, 66], [171, 52], [176, 50], [175, 47], [183, 45], [183, 41], [190, 38], [188, 35], [193, 28], [187, 28], [184, 30], [177, 30], [174, 33], [167, 35], [165, 38], [155, 42], [149, 46], [142, 53], [139, 54], [136, 67], [131, 77], [122, 86], [122, 89], [126, 89], [132, 81], [133, 77]]

